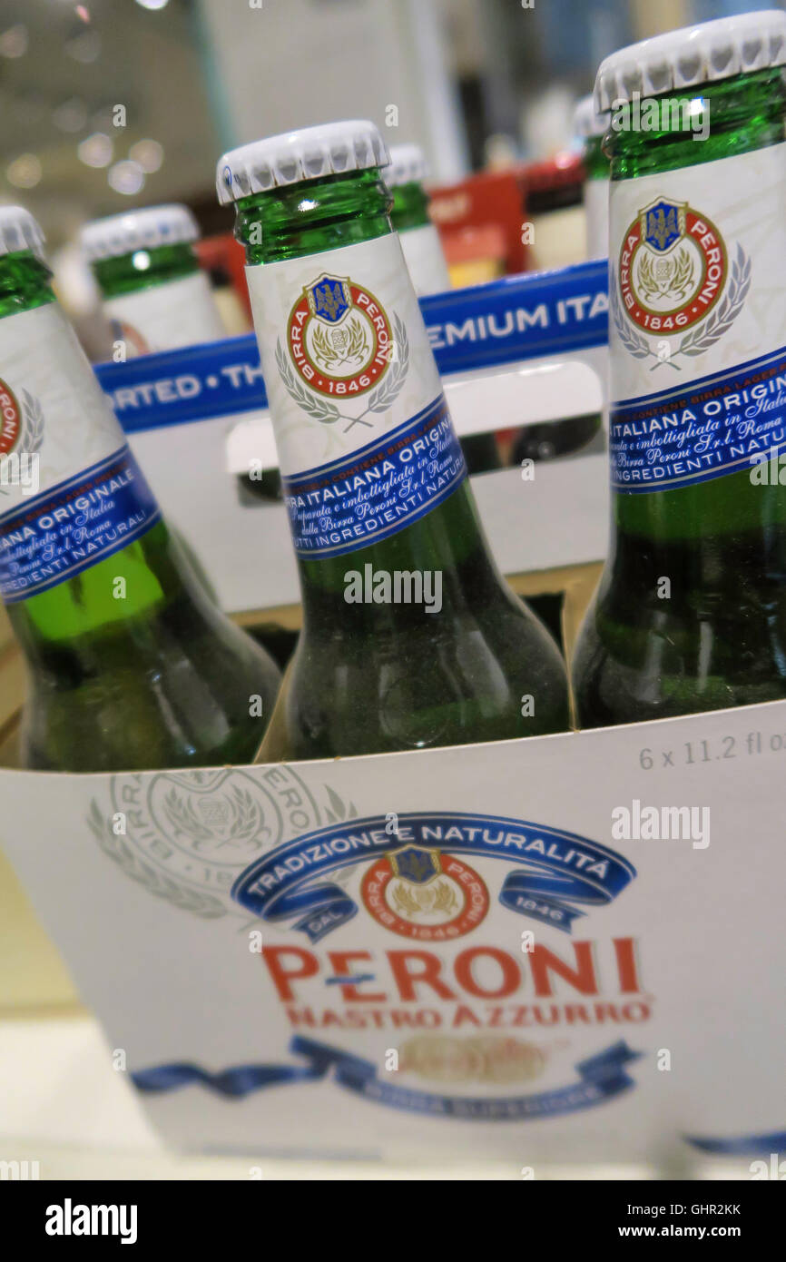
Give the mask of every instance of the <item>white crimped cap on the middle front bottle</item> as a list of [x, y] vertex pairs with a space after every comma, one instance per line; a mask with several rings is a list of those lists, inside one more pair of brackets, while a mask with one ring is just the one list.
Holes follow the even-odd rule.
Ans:
[[218, 159], [216, 188], [222, 206], [304, 179], [385, 167], [387, 149], [373, 122], [324, 122], [232, 149]]

